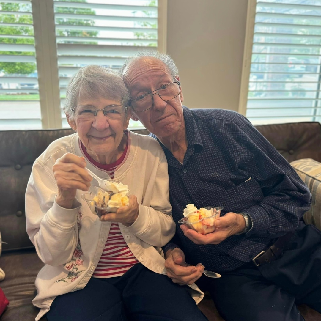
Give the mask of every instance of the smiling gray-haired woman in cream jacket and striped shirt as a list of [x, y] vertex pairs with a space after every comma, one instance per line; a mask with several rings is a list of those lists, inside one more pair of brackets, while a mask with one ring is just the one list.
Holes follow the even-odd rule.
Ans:
[[[51, 143], [33, 165], [27, 232], [45, 263], [32, 301], [41, 308], [36, 320], [45, 313], [49, 321], [207, 320], [199, 297], [165, 275], [160, 247], [175, 232], [167, 162], [156, 140], [126, 130], [127, 100], [114, 71], [81, 68], [66, 91], [76, 133]], [[86, 167], [128, 185], [129, 205], [92, 213], [81, 195], [98, 182]]]

